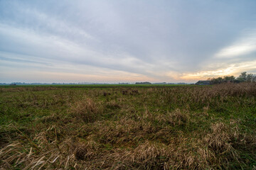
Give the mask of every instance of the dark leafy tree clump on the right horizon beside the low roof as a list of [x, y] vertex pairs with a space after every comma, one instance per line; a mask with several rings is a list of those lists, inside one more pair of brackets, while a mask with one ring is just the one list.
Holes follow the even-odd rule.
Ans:
[[256, 82], [256, 74], [247, 74], [247, 72], [242, 72], [239, 77], [235, 78], [234, 76], [225, 76], [225, 77], [218, 77], [218, 78], [211, 78], [208, 79], [210, 84], [222, 84], [225, 82], [233, 82], [233, 83], [240, 83], [240, 82]]

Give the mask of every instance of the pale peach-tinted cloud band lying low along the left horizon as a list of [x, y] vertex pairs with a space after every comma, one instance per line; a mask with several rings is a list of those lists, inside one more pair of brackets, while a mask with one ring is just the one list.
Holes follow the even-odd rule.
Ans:
[[[1, 65], [3, 64], [3, 65]], [[117, 71], [112, 69], [100, 69], [98, 67], [74, 67], [70, 64], [59, 64], [54, 67], [41, 67], [36, 64], [26, 64], [26, 69], [21, 69], [23, 63], [13, 61], [1, 62], [0, 67], [5, 70], [1, 72], [1, 79], [26, 82], [100, 82], [100, 83], [119, 83], [135, 81], [156, 81], [143, 74]], [[9, 67], [12, 66], [12, 67]], [[46, 69], [47, 68], [47, 69]], [[68, 69], [66, 69], [68, 68]], [[31, 72], [33, 69], [33, 72]], [[71, 72], [72, 71], [72, 72]], [[16, 75], [19, 75], [17, 78]], [[25, 78], [24, 78], [25, 77]]]

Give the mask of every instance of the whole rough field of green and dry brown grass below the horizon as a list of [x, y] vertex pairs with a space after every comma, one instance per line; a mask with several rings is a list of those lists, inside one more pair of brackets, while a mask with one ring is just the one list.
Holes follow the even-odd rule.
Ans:
[[1, 86], [0, 169], [255, 169], [255, 106], [252, 83]]

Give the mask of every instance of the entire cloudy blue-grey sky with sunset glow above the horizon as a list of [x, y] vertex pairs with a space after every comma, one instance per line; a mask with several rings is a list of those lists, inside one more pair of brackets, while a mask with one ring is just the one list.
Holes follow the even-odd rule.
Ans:
[[0, 0], [0, 83], [256, 74], [255, 9], [255, 0]]

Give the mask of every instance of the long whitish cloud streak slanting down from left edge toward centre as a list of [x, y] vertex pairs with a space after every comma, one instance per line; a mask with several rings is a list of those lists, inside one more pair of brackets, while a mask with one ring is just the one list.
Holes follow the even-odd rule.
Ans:
[[[121, 70], [126, 67], [144, 69], [147, 66], [145, 62], [126, 52], [112, 55], [102, 54], [90, 46], [80, 45], [58, 36], [38, 34], [32, 30], [21, 30], [0, 24], [0, 35], [2, 38], [6, 38], [6, 42], [17, 46], [14, 50], [16, 53], [26, 54], [27, 57], [37, 57], [38, 60], [53, 59], [73, 64], [90, 64], [105, 68], [115, 67]], [[6, 50], [9, 51], [12, 48], [6, 47]], [[19, 55], [19, 57], [22, 58], [23, 56]]]

